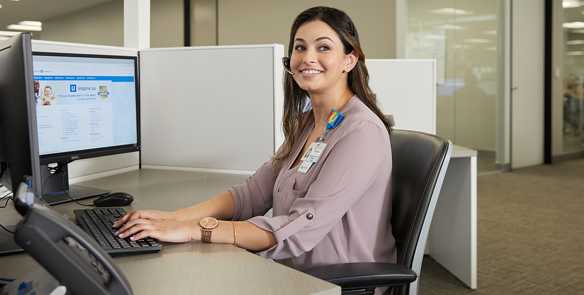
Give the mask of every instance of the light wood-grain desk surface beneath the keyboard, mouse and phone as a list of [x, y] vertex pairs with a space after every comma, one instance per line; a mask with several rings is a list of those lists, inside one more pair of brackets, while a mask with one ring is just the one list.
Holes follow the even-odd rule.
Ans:
[[[248, 176], [140, 169], [79, 183], [113, 192], [127, 192], [134, 202], [126, 211], [157, 209], [172, 211], [203, 202]], [[91, 204], [92, 199], [80, 201]], [[68, 202], [53, 209], [67, 214], [77, 224]], [[12, 202], [0, 209], [0, 222], [18, 223]], [[157, 254], [114, 257], [130, 281], [134, 294], [340, 294], [340, 287], [305, 275], [279, 263], [228, 244], [162, 243]], [[0, 256], [0, 277], [19, 277], [38, 265], [27, 254]]]

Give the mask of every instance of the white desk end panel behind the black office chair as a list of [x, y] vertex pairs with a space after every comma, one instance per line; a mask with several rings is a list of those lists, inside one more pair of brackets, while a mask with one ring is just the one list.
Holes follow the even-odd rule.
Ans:
[[[477, 151], [454, 145], [426, 253], [477, 289]], [[422, 276], [423, 279], [423, 276]]]

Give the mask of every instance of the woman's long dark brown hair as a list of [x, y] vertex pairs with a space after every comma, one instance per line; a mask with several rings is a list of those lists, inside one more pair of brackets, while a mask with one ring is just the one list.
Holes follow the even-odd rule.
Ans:
[[[389, 133], [391, 133], [392, 127], [390, 120], [381, 112], [377, 106], [377, 99], [371, 92], [369, 88], [369, 72], [365, 66], [365, 55], [363, 50], [361, 50], [361, 45], [359, 43], [359, 34], [357, 34], [357, 29], [353, 24], [353, 21], [349, 18], [347, 13], [336, 8], [330, 8], [326, 6], [318, 6], [309, 8], [301, 12], [290, 29], [290, 44], [288, 44], [288, 57], [292, 55], [292, 49], [294, 47], [294, 37], [298, 28], [304, 23], [314, 22], [319, 20], [326, 23], [333, 29], [339, 36], [339, 39], [343, 43], [343, 49], [345, 54], [351, 53], [356, 50], [359, 53], [359, 60], [354, 68], [351, 69], [347, 78], [347, 85], [349, 89], [356, 95], [361, 102], [363, 102], [371, 111], [373, 111], [381, 122], [385, 125], [385, 128]], [[273, 157], [273, 163], [275, 168], [275, 175], [280, 172], [280, 169], [286, 162], [286, 159], [290, 157], [294, 149], [294, 145], [297, 144], [298, 138], [302, 131], [314, 120], [314, 113], [312, 109], [304, 112], [305, 106], [307, 104], [307, 98], [310, 97], [307, 91], [300, 88], [294, 78], [290, 74], [284, 72], [284, 115], [282, 118], [282, 129], [284, 131], [284, 137], [286, 138], [286, 143], [281, 151]]]

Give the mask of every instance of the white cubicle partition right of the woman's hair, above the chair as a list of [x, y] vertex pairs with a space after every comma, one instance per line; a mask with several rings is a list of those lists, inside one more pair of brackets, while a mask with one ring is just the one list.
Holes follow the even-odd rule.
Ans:
[[436, 134], [436, 60], [365, 60], [369, 86], [395, 129]]

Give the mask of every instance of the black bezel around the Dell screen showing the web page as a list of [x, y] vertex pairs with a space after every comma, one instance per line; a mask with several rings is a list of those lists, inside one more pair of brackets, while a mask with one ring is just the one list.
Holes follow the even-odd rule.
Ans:
[[[88, 159], [103, 157], [107, 155], [125, 154], [127, 152], [140, 151], [141, 147], [141, 129], [140, 129], [140, 70], [138, 69], [140, 63], [137, 56], [133, 55], [105, 55], [105, 54], [82, 54], [82, 53], [54, 53], [45, 51], [33, 51], [33, 60], [35, 55], [41, 56], [56, 56], [56, 57], [80, 57], [80, 58], [109, 58], [109, 59], [123, 59], [134, 61], [134, 85], [136, 93], [136, 131], [137, 144], [113, 145], [110, 147], [93, 148], [88, 150], [78, 150], [69, 152], [60, 152], [55, 154], [40, 155], [40, 164], [52, 164], [71, 162], [77, 159]], [[33, 62], [34, 68], [34, 62]], [[34, 76], [34, 75], [33, 75]]]

